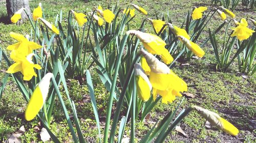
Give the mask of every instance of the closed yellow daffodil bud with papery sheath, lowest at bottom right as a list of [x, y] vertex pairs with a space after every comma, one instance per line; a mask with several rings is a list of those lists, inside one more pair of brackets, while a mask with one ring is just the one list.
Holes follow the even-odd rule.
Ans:
[[192, 106], [196, 109], [202, 117], [204, 117], [211, 125], [216, 126], [218, 129], [230, 134], [230, 135], [238, 135], [239, 130], [234, 127], [227, 120], [221, 118], [217, 113], [209, 111], [199, 106]]

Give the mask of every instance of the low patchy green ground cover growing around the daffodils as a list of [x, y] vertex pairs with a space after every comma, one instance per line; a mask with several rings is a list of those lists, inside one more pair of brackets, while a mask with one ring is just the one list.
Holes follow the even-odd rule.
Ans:
[[[30, 8], [33, 10], [37, 7], [40, 1], [30, 1]], [[120, 6], [123, 8], [129, 4], [126, 1], [120, 1]], [[205, 6], [214, 7], [210, 4], [210, 1], [136, 1], [133, 2], [140, 6], [143, 6], [147, 11], [147, 17], [156, 18], [156, 13], [159, 17], [165, 16], [169, 13], [169, 17], [176, 25], [181, 25], [184, 16], [188, 10], [192, 10], [193, 6]], [[45, 10], [46, 17], [49, 21], [53, 21], [56, 14], [61, 9], [63, 11], [63, 17], [68, 17], [68, 11], [73, 9], [80, 12], [89, 12], [98, 5], [102, 7], [114, 6], [112, 1], [92, 1], [84, 3], [83, 1], [46, 1], [42, 2]], [[237, 19], [241, 18], [253, 18], [256, 19], [256, 14], [252, 10], [245, 9], [244, 7], [237, 7], [234, 10], [237, 15]], [[12, 44], [14, 40], [10, 38], [10, 32], [29, 34], [30, 28], [27, 28], [29, 21], [25, 24], [7, 24], [6, 23], [6, 6], [4, 2], [0, 2], [0, 46], [6, 48]], [[217, 15], [211, 20], [208, 27], [211, 29], [218, 27], [221, 23]], [[142, 17], [135, 17], [132, 21], [132, 27], [138, 28], [142, 22]], [[152, 32], [152, 27], [149, 23], [146, 25], [146, 30]], [[207, 31], [201, 36], [201, 40], [208, 37]], [[222, 41], [223, 35], [218, 35], [218, 41]], [[196, 112], [191, 112], [186, 117], [180, 126], [184, 132], [189, 136], [185, 137], [182, 134], [174, 131], [167, 138], [167, 142], [255, 142], [255, 85], [256, 78], [247, 75], [243, 77], [238, 72], [237, 61], [235, 61], [228, 72], [223, 73], [216, 71], [215, 57], [208, 42], [203, 49], [205, 50], [205, 56], [203, 59], [191, 59], [187, 62], [187, 65], [176, 63], [174, 72], [179, 75], [188, 85], [196, 84], [196, 87], [188, 88], [188, 93], [194, 94], [195, 98], [186, 97], [182, 103], [181, 109], [188, 107], [189, 105], [200, 105], [206, 109], [218, 112], [222, 117], [230, 121], [236, 126], [240, 133], [238, 136], [231, 136], [216, 128], [206, 128], [205, 119], [201, 118]], [[4, 62], [1, 63], [0, 79], [4, 77], [4, 72], [7, 67]], [[104, 88], [99, 77], [97, 76], [94, 68], [91, 68], [93, 83], [95, 87], [95, 93], [97, 98], [97, 106], [100, 113], [100, 121], [102, 130], [104, 127], [105, 107], [107, 105], [107, 99], [109, 96], [108, 91]], [[76, 103], [78, 117], [81, 121], [81, 127], [84, 133], [84, 137], [89, 142], [96, 142], [98, 138], [96, 123], [94, 122], [93, 109], [90, 102], [89, 91], [86, 84], [79, 84], [75, 79], [68, 79], [70, 95]], [[63, 97], [64, 98], [64, 97]], [[164, 115], [170, 110], [174, 109], [181, 101], [182, 98], [177, 98], [175, 102], [169, 104], [158, 103], [157, 106], [151, 112], [151, 118], [144, 123], [138, 122], [136, 124], [136, 140], [139, 140], [144, 136], [145, 131], [150, 129], [154, 122], [159, 118], [163, 118]], [[67, 99], [66, 99], [67, 100]], [[21, 136], [24, 142], [40, 142], [38, 137], [39, 132], [35, 127], [40, 128], [39, 119], [35, 119], [32, 122], [27, 122], [24, 119], [24, 110], [26, 108], [26, 101], [15, 87], [15, 83], [12, 78], [9, 78], [3, 98], [0, 100], [0, 140], [4, 141], [8, 138], [8, 135], [15, 132], [21, 126], [25, 126], [26, 132]], [[51, 129], [63, 142], [72, 142], [71, 134], [66, 120], [64, 120], [63, 112], [58, 106], [54, 109], [54, 119], [52, 120]], [[126, 136], [130, 135], [129, 126], [126, 126]]]

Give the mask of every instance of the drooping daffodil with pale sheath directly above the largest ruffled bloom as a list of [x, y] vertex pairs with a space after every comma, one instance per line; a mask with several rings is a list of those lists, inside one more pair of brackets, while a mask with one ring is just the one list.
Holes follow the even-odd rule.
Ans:
[[137, 38], [139, 38], [143, 46], [150, 53], [160, 55], [165, 64], [170, 64], [170, 62], [173, 62], [174, 59], [172, 55], [170, 55], [169, 51], [165, 48], [166, 43], [160, 37], [136, 30], [130, 30], [127, 31], [127, 33], [130, 35], [135, 35]]

